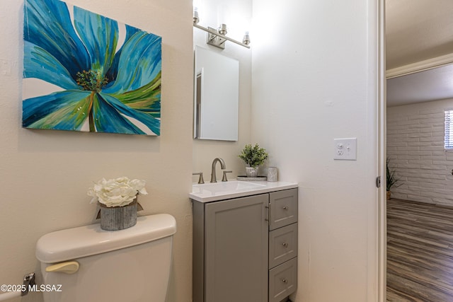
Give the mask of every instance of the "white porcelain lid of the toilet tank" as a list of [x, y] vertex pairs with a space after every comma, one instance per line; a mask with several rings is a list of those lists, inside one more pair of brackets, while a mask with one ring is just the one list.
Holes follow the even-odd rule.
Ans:
[[137, 224], [120, 231], [104, 231], [99, 223], [47, 233], [36, 243], [40, 262], [55, 263], [147, 243], [176, 233], [169, 214], [137, 217]]

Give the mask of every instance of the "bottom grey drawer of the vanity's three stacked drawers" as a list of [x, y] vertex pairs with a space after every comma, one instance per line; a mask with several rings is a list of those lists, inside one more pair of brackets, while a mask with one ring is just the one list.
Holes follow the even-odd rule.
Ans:
[[280, 302], [297, 289], [297, 257], [269, 271], [269, 302]]

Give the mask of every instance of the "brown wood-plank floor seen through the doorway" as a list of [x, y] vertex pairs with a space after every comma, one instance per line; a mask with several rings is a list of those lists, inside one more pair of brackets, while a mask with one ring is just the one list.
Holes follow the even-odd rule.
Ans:
[[453, 207], [387, 201], [387, 301], [453, 302]]

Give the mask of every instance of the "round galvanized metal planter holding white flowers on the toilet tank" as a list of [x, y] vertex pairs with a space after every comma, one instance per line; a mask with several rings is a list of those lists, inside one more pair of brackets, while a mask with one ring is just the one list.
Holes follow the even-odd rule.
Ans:
[[130, 228], [137, 223], [137, 199], [124, 207], [105, 207], [101, 204], [101, 228], [118, 231]]

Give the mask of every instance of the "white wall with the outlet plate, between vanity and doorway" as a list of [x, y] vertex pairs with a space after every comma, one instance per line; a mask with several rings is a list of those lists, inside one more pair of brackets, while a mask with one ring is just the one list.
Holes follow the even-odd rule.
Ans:
[[295, 301], [377, 301], [377, 1], [257, 0], [253, 23], [252, 139], [299, 182]]

